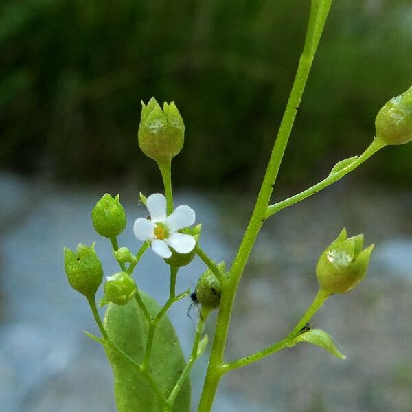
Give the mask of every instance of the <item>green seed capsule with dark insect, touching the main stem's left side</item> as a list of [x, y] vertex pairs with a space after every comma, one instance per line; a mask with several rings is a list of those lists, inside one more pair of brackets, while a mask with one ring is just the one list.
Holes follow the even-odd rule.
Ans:
[[[225, 262], [220, 262], [218, 266], [220, 270], [225, 271]], [[214, 310], [219, 307], [222, 286], [210, 269], [207, 269], [199, 278], [195, 293], [197, 301], [202, 305], [202, 309]]]

